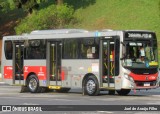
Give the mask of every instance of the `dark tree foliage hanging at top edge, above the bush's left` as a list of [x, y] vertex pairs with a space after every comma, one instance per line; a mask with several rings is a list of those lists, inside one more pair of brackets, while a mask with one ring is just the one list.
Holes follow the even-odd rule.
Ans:
[[23, 8], [25, 11], [32, 13], [33, 9], [38, 9], [37, 0], [13, 0], [17, 8]]

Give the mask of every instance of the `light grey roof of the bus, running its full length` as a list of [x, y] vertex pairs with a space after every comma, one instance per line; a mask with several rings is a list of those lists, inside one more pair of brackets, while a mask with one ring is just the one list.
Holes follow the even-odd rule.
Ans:
[[[36, 30], [30, 34], [4, 36], [3, 40], [27, 40], [27, 39], [61, 39], [61, 38], [85, 38], [123, 35], [123, 32], [152, 32], [148, 30], [110, 30], [87, 31], [84, 29], [55, 29]], [[153, 33], [153, 32], [152, 32]]]

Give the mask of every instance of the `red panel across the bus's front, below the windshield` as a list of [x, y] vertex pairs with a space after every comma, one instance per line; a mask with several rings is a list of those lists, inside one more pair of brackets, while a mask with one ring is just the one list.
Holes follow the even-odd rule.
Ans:
[[140, 74], [134, 74], [134, 73], [130, 73], [129, 74], [135, 81], [153, 81], [153, 80], [157, 80], [158, 77], [158, 73], [156, 74], [145, 74], [145, 75], [140, 75]]

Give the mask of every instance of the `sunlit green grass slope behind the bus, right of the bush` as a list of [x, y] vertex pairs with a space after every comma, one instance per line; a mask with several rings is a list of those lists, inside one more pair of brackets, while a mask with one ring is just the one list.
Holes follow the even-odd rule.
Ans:
[[75, 28], [152, 30], [160, 40], [160, 0], [97, 0], [75, 16], [80, 20]]

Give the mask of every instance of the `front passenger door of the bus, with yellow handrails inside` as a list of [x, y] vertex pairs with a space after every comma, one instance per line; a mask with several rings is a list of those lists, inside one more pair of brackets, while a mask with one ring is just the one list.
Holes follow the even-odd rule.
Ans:
[[100, 41], [100, 46], [102, 86], [115, 88], [115, 76], [119, 74], [119, 38], [106, 37]]

